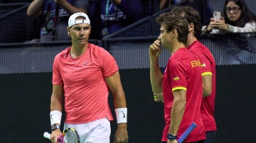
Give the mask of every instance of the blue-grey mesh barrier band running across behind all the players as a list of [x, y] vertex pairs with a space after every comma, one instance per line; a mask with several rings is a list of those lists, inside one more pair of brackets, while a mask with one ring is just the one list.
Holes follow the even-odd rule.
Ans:
[[[214, 35], [201, 38], [201, 42], [213, 53], [217, 65], [256, 64], [255, 34]], [[105, 47], [120, 69], [145, 69], [149, 68], [149, 45], [156, 38], [110, 38], [90, 42]], [[70, 44], [70, 41], [0, 44], [0, 74], [50, 72], [55, 55]], [[170, 56], [168, 50], [163, 50], [160, 67], [166, 67]]]

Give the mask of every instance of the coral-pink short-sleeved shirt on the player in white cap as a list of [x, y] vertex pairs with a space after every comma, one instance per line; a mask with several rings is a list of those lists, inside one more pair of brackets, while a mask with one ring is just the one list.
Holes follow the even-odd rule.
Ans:
[[80, 57], [70, 57], [70, 49], [60, 52], [53, 62], [53, 84], [63, 84], [65, 122], [79, 124], [107, 118], [113, 120], [105, 81], [118, 71], [117, 62], [102, 47], [89, 43]]

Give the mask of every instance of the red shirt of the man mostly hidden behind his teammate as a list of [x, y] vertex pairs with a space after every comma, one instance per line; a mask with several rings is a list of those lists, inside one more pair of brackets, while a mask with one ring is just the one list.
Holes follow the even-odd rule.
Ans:
[[210, 96], [203, 98], [202, 107], [201, 107], [201, 117], [203, 120], [203, 124], [206, 127], [206, 131], [217, 130], [216, 122], [214, 119], [215, 92], [216, 92], [215, 59], [212, 53], [210, 52], [210, 50], [199, 41], [193, 42], [188, 47], [188, 50], [190, 50], [195, 55], [197, 55], [201, 60], [203, 64], [202, 75], [210, 74], [213, 77], [212, 93], [210, 93]]

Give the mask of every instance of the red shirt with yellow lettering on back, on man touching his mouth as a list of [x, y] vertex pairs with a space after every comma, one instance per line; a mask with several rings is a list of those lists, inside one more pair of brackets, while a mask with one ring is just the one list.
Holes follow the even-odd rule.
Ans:
[[206, 132], [200, 114], [203, 94], [201, 62], [186, 47], [174, 52], [168, 60], [166, 71], [164, 72], [163, 92], [166, 125], [163, 131], [162, 142], [167, 142], [167, 134], [171, 123], [171, 108], [174, 102], [172, 91], [176, 89], [186, 90], [186, 106], [177, 136], [181, 137], [181, 134], [188, 126], [195, 122], [197, 127], [188, 135], [185, 142], [196, 142], [206, 139]]

